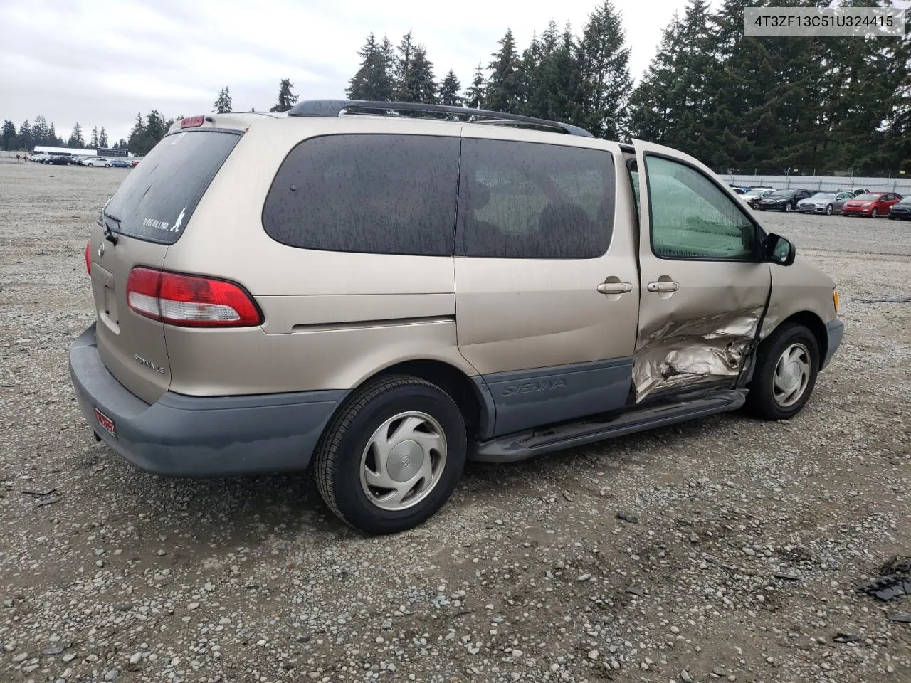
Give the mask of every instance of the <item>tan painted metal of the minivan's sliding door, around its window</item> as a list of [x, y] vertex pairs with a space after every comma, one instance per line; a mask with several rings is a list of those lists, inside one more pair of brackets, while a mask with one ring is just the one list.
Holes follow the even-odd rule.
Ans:
[[[599, 148], [614, 158], [618, 189], [626, 168], [616, 143], [521, 129], [468, 127], [466, 138]], [[635, 342], [639, 276], [630, 196], [616, 192], [609, 250], [597, 259], [455, 259], [459, 348], [479, 372], [525, 370], [629, 357]], [[606, 280], [630, 283], [606, 296]]]

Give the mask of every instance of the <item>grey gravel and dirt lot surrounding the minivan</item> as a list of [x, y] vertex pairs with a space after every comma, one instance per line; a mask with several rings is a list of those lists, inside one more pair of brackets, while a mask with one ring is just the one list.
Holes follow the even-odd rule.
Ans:
[[911, 223], [761, 215], [847, 324], [793, 422], [475, 464], [378, 539], [305, 474], [165, 480], [95, 443], [67, 346], [128, 172], [0, 159], [0, 680], [911, 680], [911, 596], [854, 589], [911, 556]]

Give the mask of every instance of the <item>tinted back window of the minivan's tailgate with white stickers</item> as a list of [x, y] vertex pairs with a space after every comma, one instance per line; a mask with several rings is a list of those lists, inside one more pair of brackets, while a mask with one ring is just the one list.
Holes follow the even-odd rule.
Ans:
[[171, 133], [129, 172], [104, 209], [110, 229], [160, 244], [173, 244], [240, 132]]

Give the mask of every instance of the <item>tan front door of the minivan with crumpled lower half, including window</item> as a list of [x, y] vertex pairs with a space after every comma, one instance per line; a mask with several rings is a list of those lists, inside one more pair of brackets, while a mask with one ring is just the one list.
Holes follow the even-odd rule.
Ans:
[[636, 401], [736, 382], [772, 286], [763, 231], [695, 158], [634, 141], [640, 183]]

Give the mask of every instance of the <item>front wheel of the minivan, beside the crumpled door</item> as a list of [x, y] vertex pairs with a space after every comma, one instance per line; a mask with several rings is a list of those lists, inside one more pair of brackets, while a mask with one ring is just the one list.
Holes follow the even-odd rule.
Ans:
[[749, 411], [770, 421], [800, 413], [816, 385], [819, 362], [819, 344], [804, 325], [786, 323], [773, 331], [759, 347], [746, 399]]

